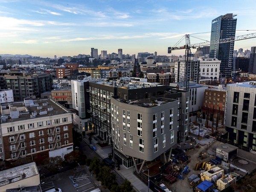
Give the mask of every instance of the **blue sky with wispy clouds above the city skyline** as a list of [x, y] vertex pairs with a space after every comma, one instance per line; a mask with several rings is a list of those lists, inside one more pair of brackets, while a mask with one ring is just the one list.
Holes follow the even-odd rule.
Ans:
[[[237, 30], [254, 30], [236, 36], [255, 33], [255, 7], [255, 0], [0, 0], [0, 54], [54, 58], [90, 55], [94, 47], [99, 54], [183, 55], [167, 49], [185, 34], [200, 33], [191, 44], [209, 41], [220, 15], [233, 13]], [[256, 38], [235, 42], [235, 49], [253, 46]]]

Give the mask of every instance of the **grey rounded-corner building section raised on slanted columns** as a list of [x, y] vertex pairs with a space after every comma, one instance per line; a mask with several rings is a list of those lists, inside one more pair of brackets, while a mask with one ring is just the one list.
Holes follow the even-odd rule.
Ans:
[[112, 97], [111, 135], [114, 157], [122, 160], [127, 168], [157, 157], [167, 162], [171, 155], [167, 152], [177, 143], [177, 115], [176, 99], [127, 101]]

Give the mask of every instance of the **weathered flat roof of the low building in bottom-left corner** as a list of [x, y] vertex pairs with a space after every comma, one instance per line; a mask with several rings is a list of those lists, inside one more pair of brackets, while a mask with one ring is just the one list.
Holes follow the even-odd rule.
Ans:
[[8, 185], [38, 174], [39, 172], [35, 162], [6, 169], [0, 172], [0, 186]]

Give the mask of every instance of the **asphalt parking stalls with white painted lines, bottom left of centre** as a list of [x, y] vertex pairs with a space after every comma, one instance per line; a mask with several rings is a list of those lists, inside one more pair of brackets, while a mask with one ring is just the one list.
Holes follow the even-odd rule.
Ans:
[[69, 178], [78, 192], [90, 192], [93, 189], [96, 189], [93, 182], [90, 180], [89, 175], [84, 171], [70, 175]]

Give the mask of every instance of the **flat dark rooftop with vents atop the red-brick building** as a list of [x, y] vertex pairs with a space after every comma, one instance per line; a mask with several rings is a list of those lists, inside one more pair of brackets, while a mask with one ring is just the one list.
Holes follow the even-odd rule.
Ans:
[[52, 116], [69, 111], [52, 99], [30, 100], [25, 98], [24, 102], [13, 102], [1, 105], [1, 123], [15, 122], [44, 116]]

